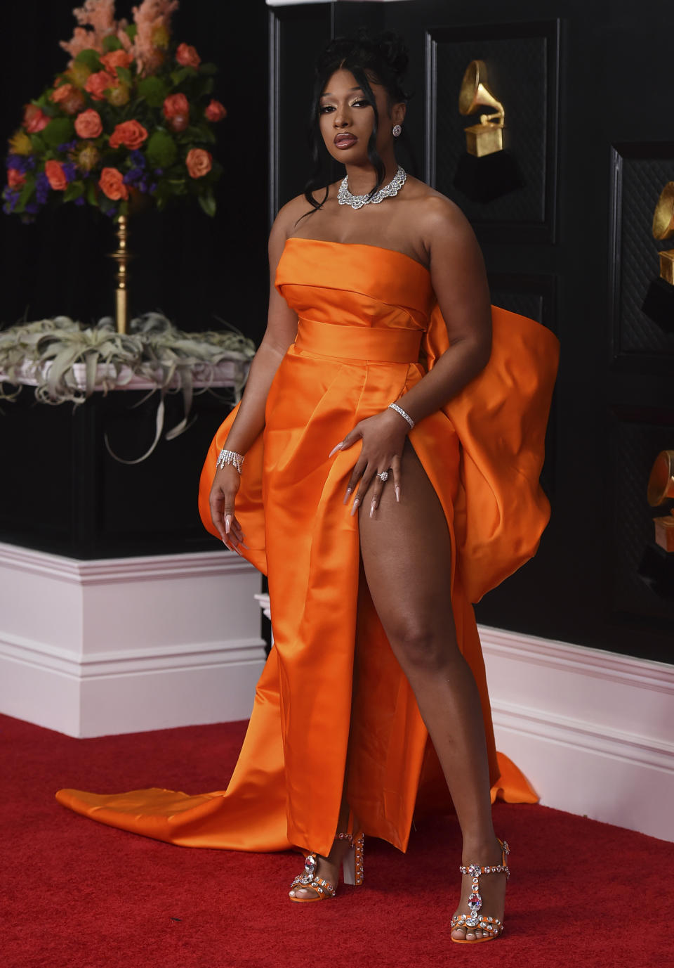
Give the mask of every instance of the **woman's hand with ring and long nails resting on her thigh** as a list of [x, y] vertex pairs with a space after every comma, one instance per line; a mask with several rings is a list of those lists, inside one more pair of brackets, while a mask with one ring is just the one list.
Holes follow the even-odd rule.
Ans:
[[[351, 506], [352, 515], [356, 513], [365, 500], [367, 488], [372, 478], [375, 474], [381, 474], [385, 471], [393, 470], [396, 500], [399, 501], [400, 457], [405, 445], [407, 430], [407, 425], [402, 417], [398, 416], [394, 410], [387, 408], [381, 413], [376, 413], [373, 417], [366, 417], [365, 420], [359, 421], [354, 429], [331, 450], [330, 456], [332, 457], [337, 450], [347, 450], [357, 440], [363, 440], [363, 448], [349, 478], [343, 501], [345, 504], [356, 491]], [[370, 498], [370, 518], [379, 506], [383, 489], [384, 481], [381, 477], [377, 477]]]

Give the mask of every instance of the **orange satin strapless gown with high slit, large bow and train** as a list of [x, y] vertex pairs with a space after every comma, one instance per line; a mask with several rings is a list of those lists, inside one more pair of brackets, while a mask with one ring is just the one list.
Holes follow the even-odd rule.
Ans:
[[[348, 750], [347, 798], [365, 832], [405, 850], [415, 809], [451, 804], [414, 695], [359, 581], [358, 521], [342, 504], [359, 447], [328, 454], [424, 376], [449, 346], [447, 329], [427, 270], [388, 249], [292, 238], [276, 285], [298, 314], [297, 339], [272, 384], [236, 505], [245, 555], [269, 575], [275, 645], [227, 789], [56, 796], [94, 820], [183, 846], [325, 855]], [[558, 342], [531, 319], [497, 308], [492, 316], [482, 374], [409, 439], [452, 536], [448, 586], [482, 696], [492, 797], [535, 802], [516, 767], [497, 758], [471, 602], [535, 554], [547, 523], [539, 475]], [[233, 418], [201, 474], [200, 513], [214, 533], [208, 494]]]

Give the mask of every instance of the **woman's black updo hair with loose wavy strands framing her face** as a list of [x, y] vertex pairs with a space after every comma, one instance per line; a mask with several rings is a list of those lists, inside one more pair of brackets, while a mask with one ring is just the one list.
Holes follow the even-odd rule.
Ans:
[[[382, 85], [388, 95], [390, 106], [407, 104], [409, 95], [402, 85], [402, 78], [407, 69], [408, 59], [407, 47], [402, 38], [391, 31], [370, 37], [365, 29], [361, 29], [354, 37], [338, 37], [322, 51], [316, 63], [311, 98], [309, 115], [311, 173], [305, 185], [305, 197], [313, 209], [322, 208], [329, 193], [328, 179], [323, 171], [321, 149], [324, 148], [324, 142], [319, 124], [320, 99], [328, 80], [336, 71], [350, 71], [364, 90], [374, 111], [372, 133], [367, 141], [367, 158], [377, 176], [377, 183], [369, 193], [372, 196], [381, 186], [386, 169], [377, 151], [379, 112], [370, 83]], [[313, 192], [318, 189], [325, 190], [321, 201], [316, 201], [313, 197]]]

